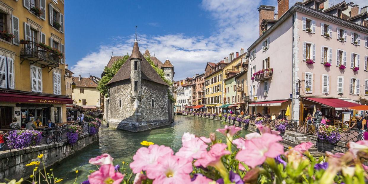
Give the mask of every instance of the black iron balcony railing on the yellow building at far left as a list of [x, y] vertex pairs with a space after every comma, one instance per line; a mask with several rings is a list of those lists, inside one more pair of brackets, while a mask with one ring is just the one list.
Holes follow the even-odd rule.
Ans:
[[28, 43], [20, 43], [21, 58], [32, 61], [33, 63], [40, 63], [46, 66], [59, 66], [60, 58], [50, 50], [40, 46], [38, 43], [29, 41]]

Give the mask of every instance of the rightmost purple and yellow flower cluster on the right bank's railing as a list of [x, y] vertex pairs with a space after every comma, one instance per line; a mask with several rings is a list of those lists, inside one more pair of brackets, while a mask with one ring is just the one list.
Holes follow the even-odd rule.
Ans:
[[322, 141], [337, 143], [340, 140], [342, 130], [332, 125], [319, 126], [317, 136]]

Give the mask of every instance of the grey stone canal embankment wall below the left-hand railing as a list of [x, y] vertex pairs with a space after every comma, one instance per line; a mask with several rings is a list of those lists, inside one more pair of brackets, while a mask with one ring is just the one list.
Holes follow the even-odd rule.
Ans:
[[49, 167], [95, 141], [98, 141], [98, 133], [91, 136], [89, 134], [82, 135], [74, 145], [63, 142], [25, 150], [3, 151], [0, 153], [0, 182], [5, 182], [5, 178], [27, 179], [32, 174], [34, 167], [26, 167], [25, 165], [32, 161], [39, 161], [40, 159], [37, 158], [39, 154], [43, 154], [42, 160], [45, 162], [45, 166]]

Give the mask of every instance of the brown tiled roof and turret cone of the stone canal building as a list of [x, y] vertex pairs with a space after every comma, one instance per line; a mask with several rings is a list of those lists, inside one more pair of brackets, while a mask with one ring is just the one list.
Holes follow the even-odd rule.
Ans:
[[[137, 52], [139, 53], [139, 56], [137, 55]], [[106, 85], [110, 85], [113, 82], [118, 82], [118, 81], [130, 79], [130, 68], [131, 68], [130, 67], [130, 65], [131, 65], [131, 60], [130, 59], [133, 59], [133, 58], [139, 58], [139, 59], [142, 58], [142, 61], [141, 61], [142, 79], [168, 86], [168, 84], [162, 80], [162, 78], [159, 76], [159, 74], [157, 74], [155, 69], [152, 68], [152, 66], [148, 63], [148, 61], [144, 58], [144, 56], [139, 52], [139, 47], [138, 47], [137, 42], [134, 42], [132, 54], [130, 55], [130, 57], [125, 61], [123, 66], [120, 67], [119, 71], [115, 74], [115, 76]]]

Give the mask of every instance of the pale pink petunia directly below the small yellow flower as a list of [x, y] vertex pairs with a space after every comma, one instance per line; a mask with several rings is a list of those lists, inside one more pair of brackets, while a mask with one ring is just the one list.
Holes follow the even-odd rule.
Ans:
[[130, 168], [133, 173], [137, 174], [142, 170], [147, 170], [149, 167], [155, 166], [159, 157], [173, 154], [174, 151], [170, 147], [163, 145], [153, 144], [148, 148], [141, 147], [133, 156], [134, 161], [130, 163]]

